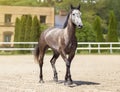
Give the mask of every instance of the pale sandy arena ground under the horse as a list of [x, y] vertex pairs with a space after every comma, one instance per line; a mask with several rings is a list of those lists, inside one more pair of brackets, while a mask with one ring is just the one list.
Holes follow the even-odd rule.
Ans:
[[65, 63], [56, 62], [59, 84], [54, 83], [51, 55], [44, 59], [44, 84], [32, 55], [0, 56], [0, 92], [120, 92], [120, 55], [76, 55], [71, 66], [74, 84], [64, 86]]

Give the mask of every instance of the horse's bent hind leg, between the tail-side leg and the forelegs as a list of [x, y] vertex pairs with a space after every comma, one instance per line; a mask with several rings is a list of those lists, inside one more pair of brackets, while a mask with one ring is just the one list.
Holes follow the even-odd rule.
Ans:
[[54, 55], [53, 55], [52, 59], [50, 60], [50, 63], [51, 63], [52, 69], [53, 69], [53, 73], [54, 73], [53, 80], [55, 82], [58, 82], [58, 76], [57, 76], [57, 71], [56, 71], [56, 67], [55, 67], [55, 62], [58, 57], [59, 57], [59, 54], [54, 52]]

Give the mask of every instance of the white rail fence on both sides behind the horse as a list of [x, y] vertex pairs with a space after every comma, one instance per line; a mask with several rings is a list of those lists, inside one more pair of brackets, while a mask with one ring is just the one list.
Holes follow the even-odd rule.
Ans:
[[[34, 50], [35, 45], [38, 42], [0, 42], [0, 50], [2, 51], [14, 51], [14, 50]], [[2, 45], [15, 45], [15, 44], [29, 44], [31, 45], [30, 48], [14, 48], [14, 47], [7, 47], [5, 48]], [[50, 50], [50, 49], [49, 49]], [[76, 52], [78, 50], [88, 50], [89, 53], [91, 53], [92, 50], [97, 50], [98, 53], [101, 53], [101, 50], [109, 50], [110, 53], [113, 53], [113, 50], [120, 50], [120, 42], [78, 42], [78, 47]]]

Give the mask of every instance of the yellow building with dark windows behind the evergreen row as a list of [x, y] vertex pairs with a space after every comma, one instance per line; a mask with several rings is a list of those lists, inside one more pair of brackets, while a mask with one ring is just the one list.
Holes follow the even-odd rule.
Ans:
[[16, 18], [22, 15], [37, 15], [41, 23], [54, 26], [54, 8], [0, 6], [0, 42], [13, 42]]

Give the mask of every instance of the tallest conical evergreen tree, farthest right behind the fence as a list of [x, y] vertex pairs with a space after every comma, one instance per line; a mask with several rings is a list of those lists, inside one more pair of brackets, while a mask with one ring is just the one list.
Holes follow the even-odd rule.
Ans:
[[108, 42], [118, 42], [117, 20], [113, 11], [110, 12], [108, 25]]

